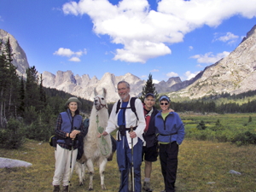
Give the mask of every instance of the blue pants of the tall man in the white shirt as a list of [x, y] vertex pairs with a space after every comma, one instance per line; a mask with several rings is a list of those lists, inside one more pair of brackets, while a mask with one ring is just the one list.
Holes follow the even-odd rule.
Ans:
[[[142, 165], [143, 141], [138, 138], [136, 145], [133, 146], [133, 167], [134, 167], [134, 185], [135, 192], [142, 191], [141, 183], [141, 165]], [[126, 136], [117, 141], [117, 162], [120, 172], [119, 192], [128, 192], [129, 190], [129, 172], [131, 176], [131, 148], [127, 143]]]

